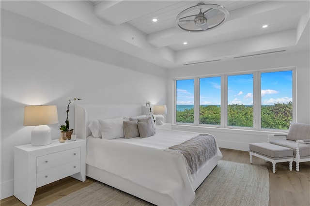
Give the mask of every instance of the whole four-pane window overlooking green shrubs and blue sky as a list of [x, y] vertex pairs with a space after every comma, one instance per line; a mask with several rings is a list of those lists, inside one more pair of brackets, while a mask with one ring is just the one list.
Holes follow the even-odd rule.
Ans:
[[[287, 130], [295, 119], [295, 69], [175, 80], [175, 123]], [[196, 90], [197, 89], [197, 90]]]

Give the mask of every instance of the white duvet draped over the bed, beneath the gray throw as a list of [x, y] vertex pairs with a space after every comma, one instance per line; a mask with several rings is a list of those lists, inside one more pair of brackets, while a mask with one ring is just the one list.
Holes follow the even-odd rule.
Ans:
[[[171, 205], [190, 205], [195, 199], [195, 191], [191, 186], [195, 174], [191, 175], [188, 171], [182, 154], [163, 149], [197, 134], [157, 129], [154, 136], [147, 138], [105, 140], [90, 136], [87, 138], [86, 163], [169, 195], [173, 201]], [[217, 147], [215, 158], [219, 160], [221, 157]]]

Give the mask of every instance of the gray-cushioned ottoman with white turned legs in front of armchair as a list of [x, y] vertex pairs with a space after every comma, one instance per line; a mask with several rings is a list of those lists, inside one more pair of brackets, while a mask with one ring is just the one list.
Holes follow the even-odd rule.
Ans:
[[272, 172], [276, 173], [276, 163], [290, 162], [290, 171], [293, 169], [293, 149], [270, 144], [267, 142], [249, 144], [250, 163], [252, 156], [272, 162]]

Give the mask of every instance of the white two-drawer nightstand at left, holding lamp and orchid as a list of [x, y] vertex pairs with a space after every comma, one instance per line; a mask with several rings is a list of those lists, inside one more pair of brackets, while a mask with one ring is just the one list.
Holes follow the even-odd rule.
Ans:
[[14, 148], [14, 196], [27, 206], [38, 187], [64, 177], [85, 181], [86, 140], [50, 145], [22, 145]]

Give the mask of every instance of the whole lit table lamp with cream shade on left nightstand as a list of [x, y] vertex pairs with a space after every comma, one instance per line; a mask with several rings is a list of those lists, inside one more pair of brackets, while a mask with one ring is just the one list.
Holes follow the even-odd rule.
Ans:
[[47, 124], [58, 123], [57, 106], [25, 106], [24, 126], [36, 126], [31, 132], [31, 145], [43, 146], [52, 142], [51, 129]]

